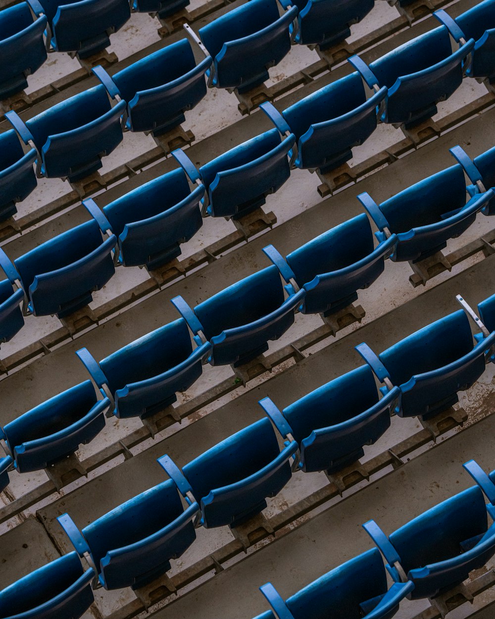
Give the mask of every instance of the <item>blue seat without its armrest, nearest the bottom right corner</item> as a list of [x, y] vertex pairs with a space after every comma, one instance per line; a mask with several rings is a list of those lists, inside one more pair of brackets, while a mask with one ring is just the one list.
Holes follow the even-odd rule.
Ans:
[[[434, 506], [392, 533], [390, 542], [400, 556], [403, 569], [415, 582], [411, 598], [433, 597], [440, 589], [465, 580], [472, 569], [481, 568], [495, 553], [495, 534], [486, 552], [478, 556], [475, 553], [467, 563], [460, 565], [456, 565], [455, 560], [468, 548], [475, 547], [487, 526], [483, 492], [475, 486]], [[429, 571], [421, 569], [426, 566], [430, 567]]]

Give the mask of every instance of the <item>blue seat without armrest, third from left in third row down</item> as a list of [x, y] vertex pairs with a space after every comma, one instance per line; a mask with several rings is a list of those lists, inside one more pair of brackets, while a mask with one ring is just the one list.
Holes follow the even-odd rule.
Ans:
[[103, 207], [118, 236], [123, 266], [157, 269], [181, 254], [203, 225], [199, 202], [204, 186], [194, 191], [183, 170], [173, 170], [145, 183]]

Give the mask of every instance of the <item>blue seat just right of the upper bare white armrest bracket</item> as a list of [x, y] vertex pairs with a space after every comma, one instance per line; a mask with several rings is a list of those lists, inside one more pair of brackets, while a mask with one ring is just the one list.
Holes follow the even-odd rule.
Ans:
[[267, 69], [290, 51], [289, 26], [296, 14], [293, 7], [280, 17], [276, 0], [250, 0], [200, 28], [215, 67], [212, 84], [239, 92], [262, 84]]

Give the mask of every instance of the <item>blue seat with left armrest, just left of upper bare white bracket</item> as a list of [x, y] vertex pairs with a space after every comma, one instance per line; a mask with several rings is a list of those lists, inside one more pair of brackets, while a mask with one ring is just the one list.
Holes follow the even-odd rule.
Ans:
[[150, 131], [160, 136], [186, 119], [206, 95], [205, 72], [212, 57], [196, 66], [191, 44], [181, 39], [109, 76], [103, 67], [93, 69], [113, 97], [127, 102], [129, 131]]

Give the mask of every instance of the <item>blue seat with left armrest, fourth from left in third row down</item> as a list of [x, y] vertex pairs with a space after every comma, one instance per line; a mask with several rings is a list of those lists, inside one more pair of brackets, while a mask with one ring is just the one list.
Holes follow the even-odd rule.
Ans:
[[183, 150], [174, 150], [172, 155], [193, 183], [204, 184], [204, 215], [239, 219], [263, 206], [267, 195], [278, 191], [289, 178], [287, 155], [295, 141], [293, 134], [281, 140], [277, 129], [270, 129], [205, 163], [199, 170]]

